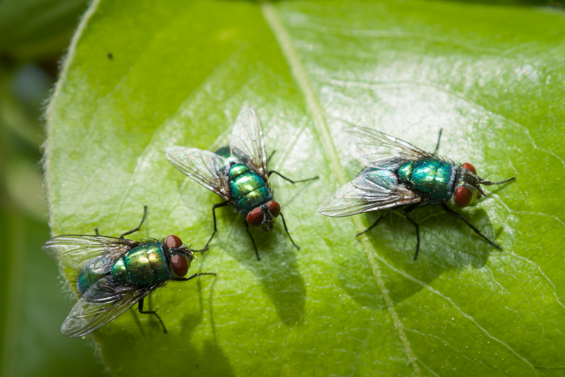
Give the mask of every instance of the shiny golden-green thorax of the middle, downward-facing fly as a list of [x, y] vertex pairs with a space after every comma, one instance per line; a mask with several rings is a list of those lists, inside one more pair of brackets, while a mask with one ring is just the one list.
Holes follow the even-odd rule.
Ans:
[[244, 164], [233, 164], [229, 169], [229, 179], [235, 207], [243, 213], [272, 199], [263, 178]]

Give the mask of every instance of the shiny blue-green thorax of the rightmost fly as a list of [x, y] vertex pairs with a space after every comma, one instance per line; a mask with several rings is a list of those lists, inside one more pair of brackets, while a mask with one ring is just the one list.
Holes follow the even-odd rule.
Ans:
[[455, 167], [435, 158], [422, 158], [403, 163], [398, 168], [401, 181], [424, 194], [431, 202], [446, 201], [453, 194]]

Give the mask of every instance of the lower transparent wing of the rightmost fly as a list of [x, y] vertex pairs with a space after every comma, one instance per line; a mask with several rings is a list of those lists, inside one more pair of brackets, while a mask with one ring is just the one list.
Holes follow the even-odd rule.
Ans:
[[362, 173], [325, 198], [318, 211], [326, 216], [342, 217], [419, 201], [417, 193], [402, 185], [392, 185], [378, 176]]

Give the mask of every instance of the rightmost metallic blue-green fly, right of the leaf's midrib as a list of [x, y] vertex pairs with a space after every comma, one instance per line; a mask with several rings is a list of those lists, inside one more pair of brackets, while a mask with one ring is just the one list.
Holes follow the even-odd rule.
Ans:
[[501, 182], [486, 181], [477, 175], [472, 164], [458, 165], [438, 156], [441, 131], [433, 153], [370, 128], [354, 127], [347, 132], [357, 138], [354, 154], [367, 168], [328, 196], [318, 208], [321, 214], [341, 217], [386, 210], [375, 223], [358, 233], [359, 236], [375, 227], [391, 209], [403, 207], [402, 215], [416, 227], [416, 259], [420, 249], [419, 225], [407, 214], [418, 207], [441, 204], [447, 213], [463, 220], [475, 233], [502, 250], [447, 203], [466, 207], [486, 196], [480, 185], [506, 183], [514, 177]]

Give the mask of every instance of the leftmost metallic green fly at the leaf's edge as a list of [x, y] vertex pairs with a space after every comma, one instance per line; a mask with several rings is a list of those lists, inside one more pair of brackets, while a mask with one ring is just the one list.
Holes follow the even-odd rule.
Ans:
[[75, 271], [75, 287], [79, 302], [63, 322], [61, 332], [69, 337], [88, 335], [138, 304], [141, 314], [153, 314], [167, 332], [154, 310], [143, 310], [144, 298], [169, 280], [186, 281], [194, 259], [194, 251], [182, 244], [179, 237], [169, 235], [164, 240], [133, 241], [120, 237], [66, 235], [45, 242], [45, 253], [59, 257], [64, 267]]

